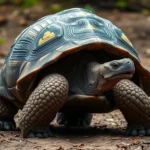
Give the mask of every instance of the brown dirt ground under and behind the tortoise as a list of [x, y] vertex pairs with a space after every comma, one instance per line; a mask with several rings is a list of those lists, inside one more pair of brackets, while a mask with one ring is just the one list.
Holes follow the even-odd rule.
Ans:
[[[17, 35], [38, 18], [47, 15], [42, 7], [22, 12], [12, 6], [0, 6], [0, 66]], [[144, 66], [150, 70], [150, 16], [113, 10], [97, 14], [120, 27], [137, 48]], [[150, 137], [127, 137], [126, 121], [119, 110], [95, 114], [89, 128], [65, 128], [55, 121], [53, 137], [23, 139], [20, 131], [0, 132], [0, 150], [150, 150]]]

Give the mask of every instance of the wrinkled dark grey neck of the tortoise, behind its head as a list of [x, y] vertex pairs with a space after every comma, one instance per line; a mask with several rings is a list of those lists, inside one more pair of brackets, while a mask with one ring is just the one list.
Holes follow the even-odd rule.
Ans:
[[69, 74], [69, 91], [70, 94], [97, 95], [105, 79], [101, 75], [101, 64], [91, 56], [82, 56], [76, 66], [72, 68]]

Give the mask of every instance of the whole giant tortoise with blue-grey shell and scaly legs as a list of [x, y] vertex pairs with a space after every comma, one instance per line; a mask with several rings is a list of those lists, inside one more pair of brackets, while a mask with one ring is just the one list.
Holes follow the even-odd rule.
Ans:
[[0, 71], [0, 130], [49, 137], [50, 122], [89, 126], [119, 109], [129, 135], [150, 135], [150, 73], [110, 21], [73, 8], [41, 18], [16, 38]]

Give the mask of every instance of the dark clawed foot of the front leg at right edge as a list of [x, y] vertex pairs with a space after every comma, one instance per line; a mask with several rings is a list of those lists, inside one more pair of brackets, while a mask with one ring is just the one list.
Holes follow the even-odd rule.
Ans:
[[128, 126], [126, 134], [129, 136], [150, 136], [150, 126]]

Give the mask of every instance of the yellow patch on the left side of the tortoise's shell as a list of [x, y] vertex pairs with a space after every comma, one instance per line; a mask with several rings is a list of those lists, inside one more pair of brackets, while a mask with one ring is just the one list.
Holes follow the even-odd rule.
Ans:
[[47, 31], [44, 33], [43, 37], [39, 40], [38, 45], [41, 45], [54, 37], [55, 37], [54, 32]]

